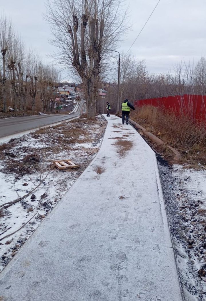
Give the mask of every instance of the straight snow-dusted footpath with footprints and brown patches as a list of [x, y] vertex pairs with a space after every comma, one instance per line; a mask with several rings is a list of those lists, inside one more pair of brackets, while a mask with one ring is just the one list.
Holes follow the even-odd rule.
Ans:
[[0, 274], [0, 300], [182, 300], [155, 154], [105, 118], [95, 159]]

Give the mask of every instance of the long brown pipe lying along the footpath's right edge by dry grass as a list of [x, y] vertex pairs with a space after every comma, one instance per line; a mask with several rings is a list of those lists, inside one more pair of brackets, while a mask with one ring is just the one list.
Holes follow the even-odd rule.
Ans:
[[[121, 114], [119, 114], [119, 116], [122, 117]], [[173, 160], [176, 163], [180, 163], [183, 161], [183, 157], [180, 154], [179, 151], [177, 151], [176, 149], [174, 149], [173, 147], [171, 147], [170, 145], [166, 144], [165, 142], [163, 142], [161, 139], [159, 139], [158, 137], [156, 137], [155, 135], [153, 135], [152, 133], [148, 132], [146, 129], [144, 129], [142, 126], [140, 126], [138, 123], [136, 123], [134, 120], [129, 118], [129, 122], [136, 128], [136, 129], [140, 129], [143, 134], [145, 136], [147, 136], [151, 141], [153, 141], [154, 143], [156, 143], [157, 145], [162, 145], [164, 144], [166, 147], [168, 147], [173, 153], [174, 153], [174, 158]]]

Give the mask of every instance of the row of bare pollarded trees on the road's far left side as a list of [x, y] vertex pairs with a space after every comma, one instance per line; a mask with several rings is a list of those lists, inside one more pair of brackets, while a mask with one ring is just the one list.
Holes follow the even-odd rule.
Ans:
[[5, 14], [0, 16], [0, 49], [0, 110], [53, 111], [59, 71], [26, 49]]

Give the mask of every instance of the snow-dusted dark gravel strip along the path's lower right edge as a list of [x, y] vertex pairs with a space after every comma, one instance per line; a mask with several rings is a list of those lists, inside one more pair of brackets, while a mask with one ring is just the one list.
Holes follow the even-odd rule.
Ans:
[[206, 300], [206, 171], [159, 170], [185, 300]]

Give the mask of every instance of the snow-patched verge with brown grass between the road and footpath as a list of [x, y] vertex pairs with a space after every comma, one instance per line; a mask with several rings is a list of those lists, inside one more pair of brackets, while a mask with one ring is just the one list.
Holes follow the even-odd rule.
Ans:
[[[39, 185], [23, 200], [0, 208], [1, 270], [98, 152], [106, 126], [101, 116], [98, 120], [75, 119], [0, 145], [0, 206]], [[80, 168], [67, 172], [51, 169], [52, 161], [58, 159], [70, 159]]]

